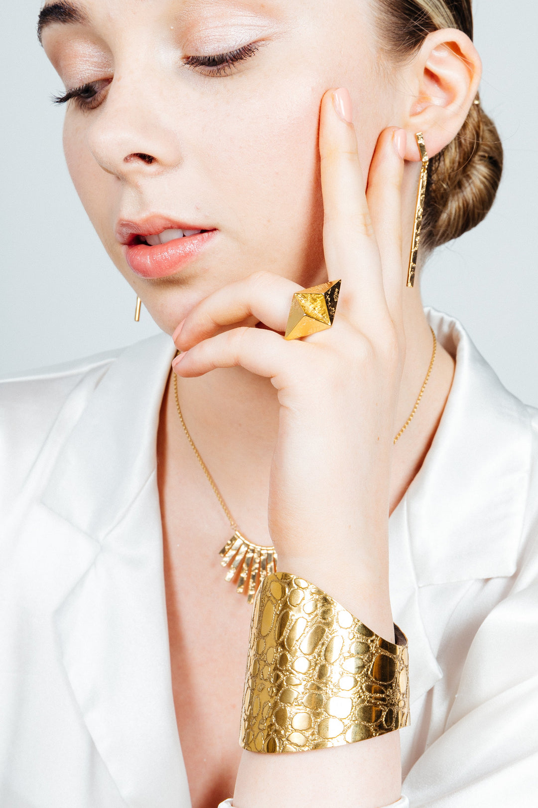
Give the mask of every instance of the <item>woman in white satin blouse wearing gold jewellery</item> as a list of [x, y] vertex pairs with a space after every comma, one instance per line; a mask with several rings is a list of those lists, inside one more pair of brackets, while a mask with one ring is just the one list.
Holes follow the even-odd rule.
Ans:
[[536, 412], [409, 262], [428, 158], [419, 267], [500, 178], [470, 2], [51, 0], [39, 30], [165, 334], [2, 385], [2, 806], [531, 805]]

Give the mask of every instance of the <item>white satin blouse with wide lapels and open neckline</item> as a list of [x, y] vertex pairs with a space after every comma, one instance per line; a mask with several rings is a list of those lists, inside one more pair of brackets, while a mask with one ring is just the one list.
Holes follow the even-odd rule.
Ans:
[[[410, 650], [402, 793], [411, 808], [527, 808], [538, 411], [457, 321], [427, 314], [457, 364], [390, 517], [391, 602]], [[159, 335], [0, 384], [1, 808], [190, 808], [156, 482], [174, 351]]]

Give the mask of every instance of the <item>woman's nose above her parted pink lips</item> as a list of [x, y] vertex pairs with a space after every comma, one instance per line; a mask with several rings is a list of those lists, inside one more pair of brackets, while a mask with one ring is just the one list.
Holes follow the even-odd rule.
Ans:
[[[98, 165], [119, 179], [136, 182], [181, 163], [177, 120], [162, 102], [162, 86], [152, 92], [148, 78], [114, 78], [87, 130], [87, 145]], [[160, 99], [160, 103], [156, 99]]]

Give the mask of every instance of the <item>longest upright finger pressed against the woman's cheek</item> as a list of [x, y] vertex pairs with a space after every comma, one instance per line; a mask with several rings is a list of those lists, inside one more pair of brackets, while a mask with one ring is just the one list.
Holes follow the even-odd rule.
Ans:
[[[366, 325], [386, 313], [381, 259], [365, 195], [352, 123], [336, 111], [347, 90], [329, 90], [321, 103], [319, 153], [323, 191], [323, 248], [331, 280], [342, 279], [340, 301]], [[348, 118], [350, 114], [348, 112]]]

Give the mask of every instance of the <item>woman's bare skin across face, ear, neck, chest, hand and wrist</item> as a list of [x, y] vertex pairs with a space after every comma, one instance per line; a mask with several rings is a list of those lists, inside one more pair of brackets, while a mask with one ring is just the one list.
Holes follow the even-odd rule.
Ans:
[[[103, 86], [94, 109], [69, 103], [69, 170], [111, 259], [161, 328], [176, 332], [195, 443], [246, 536], [273, 543], [281, 570], [392, 639], [388, 516], [422, 464], [453, 378], [440, 348], [393, 447], [432, 353], [419, 284], [405, 288], [414, 133], [430, 156], [455, 137], [478, 89], [478, 54], [461, 32], [443, 31], [405, 65], [384, 66], [366, 0], [87, 0], [85, 11], [87, 23], [43, 35], [68, 89]], [[256, 56], [229, 76], [181, 65], [255, 40]], [[339, 87], [351, 94], [352, 123], [336, 112]], [[150, 213], [219, 234], [181, 272], [144, 280], [115, 223]], [[342, 279], [335, 325], [282, 340], [294, 290], [327, 276]], [[304, 755], [240, 751], [250, 610], [223, 581], [217, 553], [229, 526], [170, 385], [157, 453], [171, 676], [194, 808], [231, 793], [238, 808], [269, 808], [275, 782], [282, 808], [397, 800], [398, 733]]]

